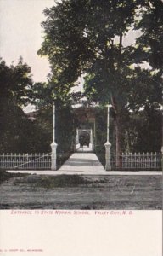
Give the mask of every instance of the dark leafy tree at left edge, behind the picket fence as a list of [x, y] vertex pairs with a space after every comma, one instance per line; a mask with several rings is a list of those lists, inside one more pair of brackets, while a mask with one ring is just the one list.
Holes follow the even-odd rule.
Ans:
[[29, 101], [31, 86], [31, 68], [23, 63], [22, 58], [16, 66], [10, 67], [0, 60], [1, 152], [19, 152], [29, 148], [31, 122], [21, 107]]

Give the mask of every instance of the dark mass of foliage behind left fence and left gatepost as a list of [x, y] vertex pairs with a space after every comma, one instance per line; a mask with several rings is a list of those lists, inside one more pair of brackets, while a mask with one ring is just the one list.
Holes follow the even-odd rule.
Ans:
[[[14, 67], [0, 62], [0, 152], [36, 153], [50, 152], [53, 141], [53, 106], [47, 84], [33, 84], [31, 68], [22, 59]], [[28, 102], [36, 102], [37, 107], [47, 102], [46, 107], [38, 108], [31, 121], [22, 107]], [[70, 106], [60, 108], [56, 102], [56, 137], [59, 162], [70, 155], [74, 140], [73, 114]], [[70, 121], [71, 120], [71, 121]], [[68, 154], [69, 153], [69, 154]], [[61, 156], [60, 156], [61, 154]]]

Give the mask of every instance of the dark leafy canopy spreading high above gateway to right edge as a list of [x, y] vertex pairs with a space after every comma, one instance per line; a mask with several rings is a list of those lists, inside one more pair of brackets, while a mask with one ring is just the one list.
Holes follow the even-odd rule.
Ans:
[[[124, 107], [127, 93], [135, 86], [131, 65], [148, 61], [161, 68], [162, 5], [160, 0], [66, 0], [45, 9], [39, 54], [48, 55], [55, 95], [67, 96], [76, 80], [87, 73], [87, 96], [98, 102], [114, 96]], [[123, 38], [132, 26], [142, 35], [134, 46], [124, 47]], [[135, 73], [138, 76], [138, 69]]]

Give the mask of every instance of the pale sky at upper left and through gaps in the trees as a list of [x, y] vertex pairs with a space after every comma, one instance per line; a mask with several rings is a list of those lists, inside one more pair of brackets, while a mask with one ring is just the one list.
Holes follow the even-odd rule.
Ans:
[[[31, 67], [34, 82], [45, 82], [50, 72], [48, 58], [37, 55], [37, 51], [43, 40], [42, 11], [53, 4], [54, 0], [0, 0], [0, 57], [7, 65], [13, 61], [16, 65], [21, 55]], [[133, 44], [138, 35], [131, 30], [123, 44]]]

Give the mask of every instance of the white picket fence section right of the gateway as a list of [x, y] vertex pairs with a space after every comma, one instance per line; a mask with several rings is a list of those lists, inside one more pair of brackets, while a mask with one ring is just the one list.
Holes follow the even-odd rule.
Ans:
[[118, 163], [111, 157], [112, 169], [121, 170], [161, 170], [161, 153], [128, 153], [121, 154]]

